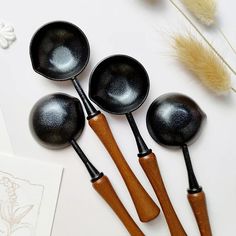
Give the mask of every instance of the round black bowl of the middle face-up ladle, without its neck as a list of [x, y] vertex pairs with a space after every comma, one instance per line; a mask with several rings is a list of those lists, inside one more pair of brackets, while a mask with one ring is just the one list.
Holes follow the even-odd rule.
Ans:
[[126, 55], [104, 59], [90, 76], [89, 97], [103, 110], [123, 115], [138, 109], [149, 92], [149, 78], [137, 60]]

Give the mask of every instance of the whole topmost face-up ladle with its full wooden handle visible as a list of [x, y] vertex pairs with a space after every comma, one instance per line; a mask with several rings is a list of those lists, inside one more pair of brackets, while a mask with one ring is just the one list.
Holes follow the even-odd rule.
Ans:
[[63, 21], [51, 22], [41, 27], [30, 44], [31, 62], [37, 73], [55, 81], [71, 80], [73, 82], [87, 112], [89, 125], [119, 169], [140, 220], [150, 221], [159, 214], [159, 208], [123, 157], [106, 117], [95, 109], [76, 79], [86, 67], [89, 54], [89, 42], [82, 30]]

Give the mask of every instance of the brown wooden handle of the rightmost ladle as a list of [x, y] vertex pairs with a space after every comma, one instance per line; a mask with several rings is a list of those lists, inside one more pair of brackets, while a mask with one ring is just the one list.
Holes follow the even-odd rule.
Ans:
[[212, 236], [205, 193], [202, 191], [200, 193], [188, 194], [188, 201], [197, 220], [201, 236]]

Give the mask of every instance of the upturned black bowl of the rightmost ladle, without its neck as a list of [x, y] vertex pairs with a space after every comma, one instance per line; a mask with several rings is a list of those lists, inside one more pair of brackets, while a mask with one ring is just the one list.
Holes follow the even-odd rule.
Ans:
[[157, 98], [147, 112], [147, 128], [161, 145], [182, 146], [198, 134], [205, 113], [189, 97], [168, 93]]

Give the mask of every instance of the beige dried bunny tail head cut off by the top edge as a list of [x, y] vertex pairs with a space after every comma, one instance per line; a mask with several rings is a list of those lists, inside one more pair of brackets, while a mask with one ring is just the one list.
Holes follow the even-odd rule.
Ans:
[[181, 0], [192, 14], [205, 25], [212, 25], [216, 17], [215, 0]]

